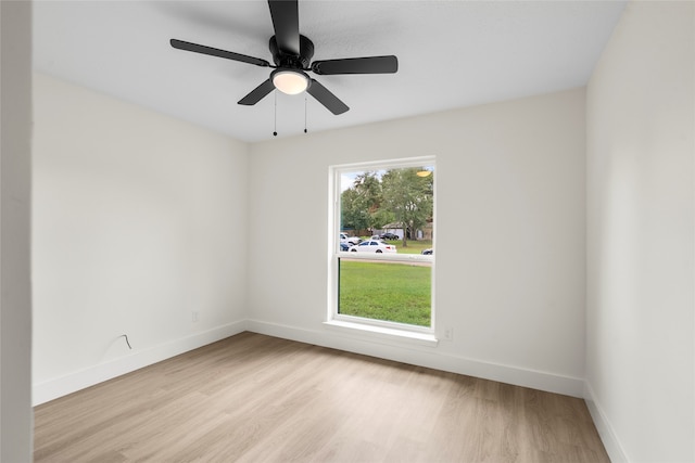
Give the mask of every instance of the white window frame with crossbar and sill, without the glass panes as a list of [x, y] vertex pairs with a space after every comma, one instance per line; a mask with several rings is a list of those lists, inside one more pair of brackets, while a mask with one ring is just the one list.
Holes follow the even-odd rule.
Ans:
[[[437, 162], [434, 156], [421, 156], [410, 157], [403, 159], [390, 159], [369, 163], [355, 163], [331, 166], [329, 168], [329, 188], [330, 188], [330, 201], [329, 201], [329, 217], [331, 223], [329, 228], [328, 237], [328, 314], [326, 323], [333, 327], [341, 330], [357, 330], [362, 332], [372, 333], [377, 335], [406, 337], [425, 344], [437, 343], [434, 337], [435, 332], [435, 307], [434, 307], [434, 281], [435, 281], [435, 258], [434, 255], [420, 255], [420, 254], [372, 254], [372, 253], [351, 253], [340, 250], [340, 200], [341, 200], [341, 175], [344, 172], [355, 171], [376, 171], [399, 169], [408, 167], [422, 167], [433, 166], [434, 172], [437, 172]], [[433, 234], [432, 234], [432, 247], [435, 246], [437, 240], [437, 173], [433, 180]], [[396, 244], [397, 246], [397, 244]], [[338, 313], [338, 297], [339, 297], [339, 259], [350, 258], [355, 260], [387, 260], [387, 261], [425, 261], [431, 263], [431, 307], [430, 307], [430, 326], [418, 326], [405, 323], [397, 323], [384, 320], [368, 319], [362, 317], [346, 316]]]

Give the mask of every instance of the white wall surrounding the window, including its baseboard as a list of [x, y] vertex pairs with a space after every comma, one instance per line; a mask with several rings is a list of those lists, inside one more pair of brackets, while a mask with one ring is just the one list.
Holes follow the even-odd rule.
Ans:
[[[584, 121], [577, 89], [252, 145], [250, 329], [580, 396]], [[437, 326], [454, 340], [326, 331], [328, 167], [421, 155], [437, 156]]]

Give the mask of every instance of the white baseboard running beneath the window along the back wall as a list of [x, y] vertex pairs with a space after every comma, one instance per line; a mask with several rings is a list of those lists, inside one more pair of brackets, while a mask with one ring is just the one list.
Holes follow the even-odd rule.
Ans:
[[269, 336], [566, 396], [583, 398], [584, 394], [584, 381], [582, 378], [468, 359], [405, 340], [386, 340], [382, 337], [370, 337], [368, 334], [341, 333], [329, 329], [311, 331], [258, 320], [248, 320], [247, 330]]

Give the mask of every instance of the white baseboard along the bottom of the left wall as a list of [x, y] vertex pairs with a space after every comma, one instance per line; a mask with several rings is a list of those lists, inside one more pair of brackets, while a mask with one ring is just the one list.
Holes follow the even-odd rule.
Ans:
[[38, 406], [48, 402], [244, 331], [247, 331], [245, 320], [229, 323], [149, 349], [134, 351], [129, 356], [99, 363], [65, 376], [35, 384], [33, 387], [33, 404]]

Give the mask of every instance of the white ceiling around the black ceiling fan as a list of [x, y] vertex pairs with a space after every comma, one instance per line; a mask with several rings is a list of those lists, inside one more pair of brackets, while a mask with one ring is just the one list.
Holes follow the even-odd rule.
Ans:
[[[314, 76], [351, 110], [307, 97], [309, 132], [584, 86], [626, 2], [300, 0], [315, 60], [395, 54], [397, 74]], [[35, 1], [37, 70], [255, 142], [275, 98], [237, 104], [271, 69], [175, 50], [169, 39], [273, 61], [254, 1]], [[277, 95], [279, 137], [304, 129], [305, 98]]]

